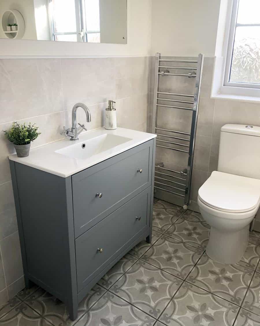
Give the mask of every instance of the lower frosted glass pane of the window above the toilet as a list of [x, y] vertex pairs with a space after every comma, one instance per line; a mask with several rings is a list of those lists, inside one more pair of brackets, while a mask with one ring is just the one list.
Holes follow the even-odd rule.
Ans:
[[260, 26], [236, 28], [230, 82], [260, 83]]

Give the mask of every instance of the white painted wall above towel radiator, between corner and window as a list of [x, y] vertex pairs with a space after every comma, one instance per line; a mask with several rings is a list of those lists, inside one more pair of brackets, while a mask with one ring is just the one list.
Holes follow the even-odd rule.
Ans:
[[214, 56], [220, 0], [152, 0], [152, 54]]

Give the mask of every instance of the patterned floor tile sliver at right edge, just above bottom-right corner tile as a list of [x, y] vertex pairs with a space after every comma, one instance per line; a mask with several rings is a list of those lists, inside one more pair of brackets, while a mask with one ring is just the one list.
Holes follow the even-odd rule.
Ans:
[[260, 274], [255, 273], [242, 307], [260, 316]]

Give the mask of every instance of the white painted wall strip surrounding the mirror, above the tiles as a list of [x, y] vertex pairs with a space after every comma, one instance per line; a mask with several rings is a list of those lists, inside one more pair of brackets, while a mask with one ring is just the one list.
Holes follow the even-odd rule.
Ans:
[[[24, 1], [24, 0], [23, 0]], [[127, 44], [0, 39], [0, 56], [138, 56], [151, 53], [151, 1], [127, 1]]]

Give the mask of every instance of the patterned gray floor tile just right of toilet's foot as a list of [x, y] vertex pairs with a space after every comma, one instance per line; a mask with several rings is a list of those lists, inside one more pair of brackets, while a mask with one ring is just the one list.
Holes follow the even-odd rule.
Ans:
[[[238, 264], [246, 268], [252, 269], [254, 271], [258, 265], [259, 259], [260, 259], [260, 243], [249, 239], [246, 251], [242, 259], [238, 262]], [[259, 266], [258, 266], [258, 270], [260, 272]]]

